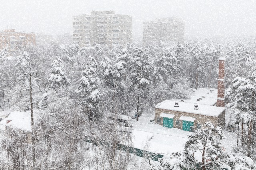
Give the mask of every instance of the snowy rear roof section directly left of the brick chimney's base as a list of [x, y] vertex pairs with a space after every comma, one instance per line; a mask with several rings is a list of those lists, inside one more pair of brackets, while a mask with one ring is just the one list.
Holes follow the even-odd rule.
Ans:
[[[190, 99], [183, 100], [188, 103], [196, 103], [202, 105], [214, 105], [217, 101], [218, 90], [217, 89], [206, 89], [198, 88], [194, 89]], [[197, 101], [200, 99], [200, 101]]]

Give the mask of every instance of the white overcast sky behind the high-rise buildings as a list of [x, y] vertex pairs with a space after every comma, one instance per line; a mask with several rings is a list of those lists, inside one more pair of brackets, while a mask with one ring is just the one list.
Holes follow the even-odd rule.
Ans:
[[179, 16], [185, 37], [256, 36], [254, 0], [1, 0], [0, 30], [43, 34], [72, 33], [72, 16], [112, 10], [132, 16], [134, 40], [142, 22]]

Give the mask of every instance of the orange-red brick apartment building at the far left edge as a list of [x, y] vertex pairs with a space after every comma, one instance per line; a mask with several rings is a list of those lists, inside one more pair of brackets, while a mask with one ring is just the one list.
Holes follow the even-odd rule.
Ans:
[[13, 53], [28, 44], [36, 45], [35, 33], [15, 32], [15, 29], [0, 32], [1, 50], [8, 47], [9, 52]]

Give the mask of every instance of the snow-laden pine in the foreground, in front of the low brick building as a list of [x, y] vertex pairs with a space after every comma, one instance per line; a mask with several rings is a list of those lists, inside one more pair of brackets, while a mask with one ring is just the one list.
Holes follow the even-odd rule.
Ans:
[[224, 139], [222, 128], [207, 122], [202, 128], [196, 129], [195, 133], [188, 135], [188, 139], [184, 147], [185, 164], [195, 166], [198, 162], [194, 155], [198, 154], [202, 157], [202, 170], [222, 169], [227, 158], [220, 143]]

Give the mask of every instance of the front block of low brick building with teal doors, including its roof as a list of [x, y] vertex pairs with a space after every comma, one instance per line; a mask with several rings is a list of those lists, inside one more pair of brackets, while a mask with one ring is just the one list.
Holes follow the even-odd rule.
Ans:
[[168, 128], [193, 131], [210, 121], [225, 126], [225, 109], [211, 105], [166, 100], [155, 107], [155, 123]]

